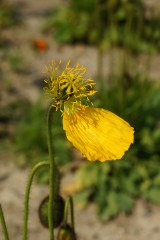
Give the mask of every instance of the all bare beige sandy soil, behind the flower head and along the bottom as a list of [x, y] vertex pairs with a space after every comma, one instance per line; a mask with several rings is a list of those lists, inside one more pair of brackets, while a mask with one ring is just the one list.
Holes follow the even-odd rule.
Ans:
[[[12, 0], [7, 0], [13, 4]], [[159, 1], [146, 1], [148, 5], [160, 6]], [[4, 31], [2, 34], [13, 45], [13, 51], [17, 51], [25, 57], [27, 74], [17, 74], [10, 70], [5, 61], [1, 61], [4, 69], [3, 74], [7, 73], [8, 79], [15, 86], [20, 96], [25, 96], [31, 101], [35, 101], [39, 95], [39, 89], [33, 84], [37, 79], [42, 78], [44, 66], [54, 59], [82, 63], [88, 66], [88, 75], [96, 75], [96, 49], [84, 45], [59, 46], [50, 36], [45, 36], [49, 45], [46, 52], [35, 52], [32, 42], [35, 39], [44, 38], [41, 27], [47, 11], [53, 6], [65, 4], [63, 0], [15, 0], [23, 19], [21, 26]], [[3, 60], [3, 53], [0, 53]], [[104, 71], [108, 72], [108, 56], [104, 57]], [[0, 59], [0, 60], [1, 60]], [[151, 76], [158, 78], [160, 75], [160, 56], [152, 59]], [[7, 101], [8, 95], [2, 94], [2, 99]], [[11, 153], [0, 155], [0, 202], [3, 205], [6, 222], [9, 227], [11, 239], [22, 239], [21, 227], [23, 216], [23, 197], [28, 176], [26, 168], [14, 165]], [[72, 179], [72, 178], [70, 178]], [[64, 180], [63, 180], [64, 181]], [[72, 180], [70, 180], [72, 181]], [[34, 184], [30, 199], [30, 218], [29, 218], [29, 239], [44, 240], [48, 239], [48, 230], [44, 229], [38, 220], [37, 202], [48, 193], [47, 186]], [[116, 219], [106, 223], [100, 223], [96, 216], [94, 205], [81, 209], [75, 207], [76, 213], [76, 232], [79, 240], [159, 240], [160, 239], [160, 207], [138, 200], [133, 213], [129, 216], [123, 214]], [[0, 227], [0, 240], [3, 240], [2, 229]]]

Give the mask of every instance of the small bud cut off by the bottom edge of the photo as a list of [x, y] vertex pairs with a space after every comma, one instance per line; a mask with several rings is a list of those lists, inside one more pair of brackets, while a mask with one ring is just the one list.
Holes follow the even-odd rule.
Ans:
[[76, 240], [76, 234], [69, 224], [60, 227], [57, 240]]

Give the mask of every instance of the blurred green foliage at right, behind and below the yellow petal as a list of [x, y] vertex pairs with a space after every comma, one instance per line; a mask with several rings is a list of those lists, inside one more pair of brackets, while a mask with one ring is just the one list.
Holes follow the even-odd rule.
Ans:
[[123, 117], [135, 129], [134, 144], [122, 160], [86, 162], [78, 173], [84, 186], [78, 198], [84, 204], [95, 202], [100, 218], [107, 220], [120, 212], [130, 213], [137, 197], [160, 204], [160, 86], [124, 74], [118, 84], [100, 93], [98, 106]]

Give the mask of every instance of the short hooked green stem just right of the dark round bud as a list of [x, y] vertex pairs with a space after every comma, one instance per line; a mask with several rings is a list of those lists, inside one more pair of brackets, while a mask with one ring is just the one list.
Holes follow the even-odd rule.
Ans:
[[71, 226], [72, 226], [73, 231], [75, 232], [74, 204], [73, 204], [73, 198], [71, 196], [68, 196], [66, 199], [65, 209], [64, 209], [64, 224], [67, 223], [69, 205], [70, 205]]

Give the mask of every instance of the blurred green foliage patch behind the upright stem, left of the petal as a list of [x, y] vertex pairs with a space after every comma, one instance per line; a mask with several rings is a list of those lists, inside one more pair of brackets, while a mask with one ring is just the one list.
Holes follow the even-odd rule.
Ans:
[[[31, 165], [48, 160], [46, 107], [41, 101], [35, 104], [23, 105], [20, 109], [21, 118], [16, 123], [14, 138], [15, 151], [25, 157], [25, 162]], [[44, 117], [43, 117], [44, 116]], [[56, 124], [54, 122], [56, 121]], [[70, 145], [66, 142], [61, 124], [61, 113], [55, 112], [53, 119], [53, 140], [55, 159], [59, 165], [70, 160]], [[38, 181], [46, 182], [48, 173], [39, 171]]]

